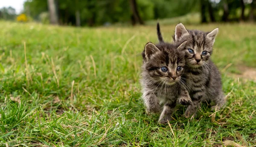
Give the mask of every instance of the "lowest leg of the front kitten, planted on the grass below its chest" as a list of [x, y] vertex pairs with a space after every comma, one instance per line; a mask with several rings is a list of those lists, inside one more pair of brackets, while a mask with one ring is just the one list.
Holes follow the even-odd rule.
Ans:
[[172, 104], [166, 103], [163, 106], [163, 111], [158, 120], [160, 124], [166, 124], [168, 123], [168, 121], [172, 120], [172, 113], [175, 110], [175, 106], [176, 106], [176, 102], [173, 102]]

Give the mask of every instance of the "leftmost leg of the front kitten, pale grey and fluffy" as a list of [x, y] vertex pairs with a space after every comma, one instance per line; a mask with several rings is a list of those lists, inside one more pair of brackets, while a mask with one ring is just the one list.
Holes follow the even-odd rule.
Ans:
[[160, 104], [157, 96], [152, 92], [143, 93], [143, 100], [147, 107], [147, 112], [158, 113], [160, 112]]

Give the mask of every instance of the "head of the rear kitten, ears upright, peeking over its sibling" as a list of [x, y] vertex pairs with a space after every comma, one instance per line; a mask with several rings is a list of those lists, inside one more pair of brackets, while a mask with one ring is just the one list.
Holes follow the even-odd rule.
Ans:
[[215, 36], [218, 33], [218, 28], [210, 33], [193, 30], [187, 31], [180, 23], [175, 28], [175, 42], [186, 40], [186, 47], [182, 50], [186, 54], [186, 63], [192, 68], [198, 68], [207, 64], [207, 60], [212, 54], [212, 46], [215, 41]]

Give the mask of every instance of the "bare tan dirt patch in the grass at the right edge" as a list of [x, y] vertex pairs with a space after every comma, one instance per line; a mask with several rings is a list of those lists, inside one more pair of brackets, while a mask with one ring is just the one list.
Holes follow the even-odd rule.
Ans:
[[241, 74], [232, 74], [236, 78], [249, 79], [256, 82], [256, 68], [250, 68], [247, 66], [238, 67]]

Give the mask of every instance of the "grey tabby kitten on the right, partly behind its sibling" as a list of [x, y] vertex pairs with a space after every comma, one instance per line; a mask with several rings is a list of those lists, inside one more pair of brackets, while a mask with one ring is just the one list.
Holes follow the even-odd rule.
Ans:
[[179, 23], [175, 28], [174, 42], [187, 41], [185, 48], [180, 48], [185, 53], [187, 72], [184, 77], [189, 84], [188, 90], [192, 99], [192, 105], [189, 105], [186, 109], [186, 117], [195, 116], [194, 114], [203, 101], [215, 102], [212, 110], [220, 110], [225, 104], [221, 75], [210, 59], [217, 33], [218, 28], [208, 33], [186, 30], [182, 23]]

